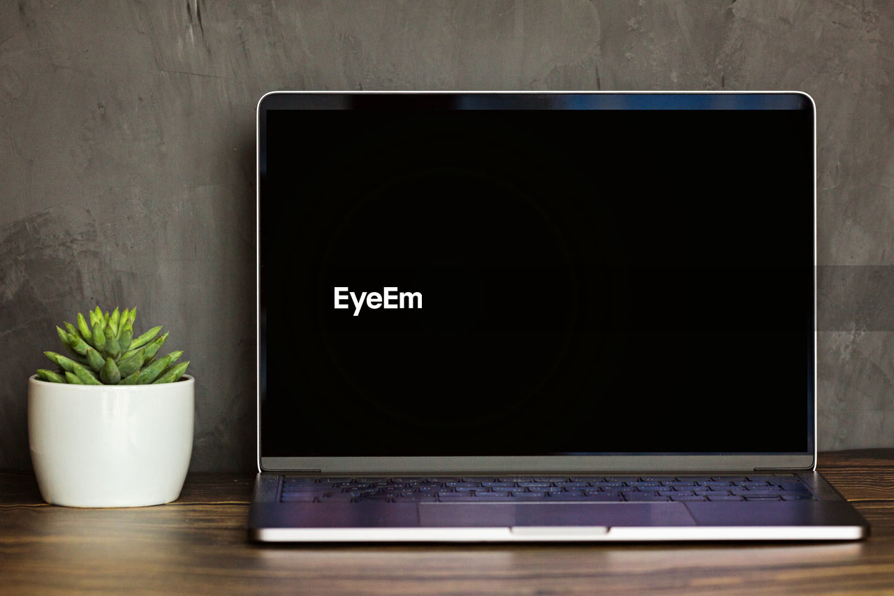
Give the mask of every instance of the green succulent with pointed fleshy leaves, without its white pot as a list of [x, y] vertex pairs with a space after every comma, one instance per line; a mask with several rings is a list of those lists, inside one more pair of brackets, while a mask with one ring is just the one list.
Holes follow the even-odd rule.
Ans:
[[78, 326], [63, 323], [56, 328], [59, 339], [71, 357], [45, 352], [58, 370], [38, 369], [38, 378], [52, 383], [72, 385], [146, 385], [171, 383], [181, 378], [190, 362], [180, 362], [181, 350], [158, 357], [168, 334], [159, 336], [161, 327], [133, 336], [137, 309], [117, 307], [112, 314], [97, 306], [88, 311], [90, 324], [78, 313]]

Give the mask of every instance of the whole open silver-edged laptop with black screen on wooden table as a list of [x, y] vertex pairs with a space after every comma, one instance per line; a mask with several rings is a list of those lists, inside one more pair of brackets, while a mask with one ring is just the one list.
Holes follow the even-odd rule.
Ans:
[[274, 92], [254, 541], [858, 540], [800, 92]]

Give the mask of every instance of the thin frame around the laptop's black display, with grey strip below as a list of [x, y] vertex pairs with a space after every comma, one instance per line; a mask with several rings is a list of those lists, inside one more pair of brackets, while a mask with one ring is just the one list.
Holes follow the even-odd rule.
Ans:
[[[813, 353], [808, 367], [807, 448], [798, 453], [595, 454], [587, 456], [426, 456], [426, 457], [304, 457], [264, 456], [261, 443], [262, 383], [266, 361], [261, 345], [260, 217], [261, 188], [266, 175], [266, 112], [270, 109], [351, 109], [363, 96], [410, 96], [419, 109], [547, 109], [547, 110], [810, 110], [813, 146]], [[803, 91], [271, 91], [257, 103], [256, 169], [256, 325], [257, 325], [257, 469], [260, 472], [321, 473], [521, 473], [521, 472], [734, 472], [814, 470], [816, 465], [816, 109]], [[767, 413], [772, 416], [772, 413]]]

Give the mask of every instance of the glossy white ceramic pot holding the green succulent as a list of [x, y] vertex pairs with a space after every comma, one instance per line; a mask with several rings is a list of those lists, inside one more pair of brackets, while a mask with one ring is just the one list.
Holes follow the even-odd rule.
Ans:
[[158, 385], [28, 381], [40, 495], [69, 507], [144, 507], [180, 495], [192, 455], [195, 380]]

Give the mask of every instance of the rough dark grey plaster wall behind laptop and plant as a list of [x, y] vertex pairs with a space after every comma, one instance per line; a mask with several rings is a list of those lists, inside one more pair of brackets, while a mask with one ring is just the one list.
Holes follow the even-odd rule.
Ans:
[[30, 467], [53, 324], [97, 302], [192, 361], [192, 468], [251, 467], [271, 89], [809, 92], [819, 259], [849, 266], [820, 274], [820, 447], [894, 446], [892, 21], [881, 0], [0, 3], [0, 468]]

